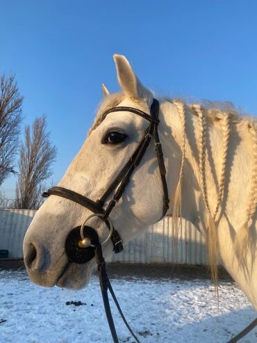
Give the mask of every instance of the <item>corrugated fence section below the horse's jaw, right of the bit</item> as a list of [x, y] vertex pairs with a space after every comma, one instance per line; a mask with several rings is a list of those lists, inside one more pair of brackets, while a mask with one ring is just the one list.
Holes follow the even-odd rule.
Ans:
[[122, 253], [113, 255], [113, 262], [208, 263], [204, 237], [188, 221], [181, 221], [178, 246], [174, 248], [171, 217], [152, 225], [141, 239], [133, 239]]

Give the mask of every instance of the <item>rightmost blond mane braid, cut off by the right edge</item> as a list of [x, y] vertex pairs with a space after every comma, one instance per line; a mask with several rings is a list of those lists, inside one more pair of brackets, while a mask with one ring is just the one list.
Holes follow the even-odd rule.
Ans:
[[253, 166], [251, 173], [251, 186], [249, 194], [249, 202], [246, 211], [246, 219], [244, 224], [238, 230], [235, 236], [235, 254], [238, 259], [246, 263], [246, 256], [249, 250], [249, 226], [251, 219], [254, 217], [257, 206], [257, 127], [254, 121], [249, 122], [249, 132], [252, 136], [253, 147]]

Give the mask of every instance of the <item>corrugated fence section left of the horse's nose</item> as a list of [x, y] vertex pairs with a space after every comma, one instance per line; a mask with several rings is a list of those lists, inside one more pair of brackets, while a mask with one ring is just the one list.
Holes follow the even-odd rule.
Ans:
[[22, 242], [35, 212], [32, 209], [0, 210], [0, 249], [9, 250], [9, 257], [23, 257]]

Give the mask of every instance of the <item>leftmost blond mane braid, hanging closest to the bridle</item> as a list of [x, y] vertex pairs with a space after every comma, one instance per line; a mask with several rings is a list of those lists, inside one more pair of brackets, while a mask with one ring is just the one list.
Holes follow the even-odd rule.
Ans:
[[[181, 147], [181, 168], [179, 170], [179, 181], [174, 195], [174, 205], [172, 214], [172, 232], [174, 237], [174, 248], [178, 247], [179, 231], [181, 230], [181, 203], [182, 203], [182, 181], [185, 166], [185, 104], [180, 101], [172, 102], [176, 106], [182, 123], [182, 147]], [[176, 251], [177, 253], [177, 251]]]

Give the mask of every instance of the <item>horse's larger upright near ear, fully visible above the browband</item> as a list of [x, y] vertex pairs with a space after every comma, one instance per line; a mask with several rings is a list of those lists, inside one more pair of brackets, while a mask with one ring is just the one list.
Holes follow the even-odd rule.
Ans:
[[125, 56], [113, 55], [119, 86], [121, 86], [125, 95], [131, 98], [152, 99], [152, 94], [147, 88], [144, 88], [138, 77], [133, 72], [131, 65]]

